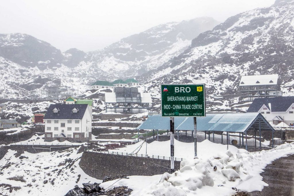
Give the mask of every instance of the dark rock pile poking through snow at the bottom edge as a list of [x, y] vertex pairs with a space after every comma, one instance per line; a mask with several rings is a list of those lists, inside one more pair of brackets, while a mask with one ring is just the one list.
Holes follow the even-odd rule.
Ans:
[[94, 184], [91, 183], [83, 183], [83, 188], [75, 186], [74, 189], [70, 190], [66, 193], [65, 196], [98, 196], [98, 195], [109, 195], [109, 196], [128, 196], [133, 191], [126, 186], [115, 187], [109, 190], [103, 190], [99, 187], [100, 184], [96, 182]]

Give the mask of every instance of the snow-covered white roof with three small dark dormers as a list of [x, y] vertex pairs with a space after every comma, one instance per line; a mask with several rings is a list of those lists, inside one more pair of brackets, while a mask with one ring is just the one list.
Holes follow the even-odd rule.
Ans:
[[277, 85], [278, 74], [242, 76], [239, 86]]

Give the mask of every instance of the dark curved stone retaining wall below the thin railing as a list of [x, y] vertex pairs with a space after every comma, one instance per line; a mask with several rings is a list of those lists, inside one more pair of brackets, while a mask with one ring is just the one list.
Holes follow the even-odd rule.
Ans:
[[[152, 163], [151, 163], [152, 162]], [[155, 164], [161, 165], [155, 165]], [[111, 155], [95, 152], [83, 152], [79, 163], [82, 170], [91, 177], [103, 179], [118, 175], [156, 175], [170, 173], [169, 160]], [[167, 167], [167, 168], [165, 168]], [[175, 161], [175, 170], [180, 168], [180, 161]]]

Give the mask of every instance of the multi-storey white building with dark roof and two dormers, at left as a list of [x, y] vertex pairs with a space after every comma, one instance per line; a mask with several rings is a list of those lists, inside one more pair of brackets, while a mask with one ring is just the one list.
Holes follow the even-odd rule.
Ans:
[[45, 142], [92, 139], [92, 113], [88, 104], [51, 104], [44, 116]]

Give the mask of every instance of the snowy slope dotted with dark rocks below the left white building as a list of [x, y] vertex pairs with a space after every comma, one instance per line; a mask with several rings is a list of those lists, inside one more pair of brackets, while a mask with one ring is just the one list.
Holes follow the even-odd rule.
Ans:
[[[85, 182], [102, 182], [102, 180], [86, 175], [79, 167], [79, 158], [82, 154], [78, 154], [77, 149], [36, 154], [24, 152], [21, 155], [26, 158], [23, 159], [16, 157], [15, 153], [16, 151], [14, 150], [8, 150], [6, 155], [0, 160], [0, 165], [2, 166], [11, 162], [10, 167], [1, 170], [3, 174], [0, 175], [0, 181], [4, 184], [20, 187], [21, 189], [10, 193], [9, 190], [1, 186], [0, 192], [4, 195], [65, 195], [75, 185], [81, 187], [82, 183]], [[71, 167], [69, 164], [72, 162], [65, 163], [66, 158], [71, 158], [75, 161]], [[62, 165], [60, 163], [65, 164]], [[78, 175], [81, 175], [80, 178]], [[23, 177], [24, 180], [9, 180], [9, 178], [16, 176]]]

